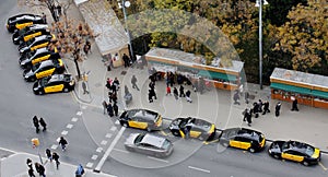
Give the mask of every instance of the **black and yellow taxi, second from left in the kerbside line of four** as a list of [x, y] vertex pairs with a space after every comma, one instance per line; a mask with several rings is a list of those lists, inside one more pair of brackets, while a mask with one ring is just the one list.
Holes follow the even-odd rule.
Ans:
[[176, 137], [211, 140], [215, 135], [215, 125], [198, 118], [176, 118], [168, 129]]

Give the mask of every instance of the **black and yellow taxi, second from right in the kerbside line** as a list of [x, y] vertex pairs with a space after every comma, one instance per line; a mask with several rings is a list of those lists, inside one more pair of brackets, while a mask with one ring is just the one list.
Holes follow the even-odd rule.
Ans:
[[219, 142], [223, 146], [243, 149], [251, 153], [261, 151], [266, 146], [266, 138], [261, 132], [246, 128], [223, 130]]

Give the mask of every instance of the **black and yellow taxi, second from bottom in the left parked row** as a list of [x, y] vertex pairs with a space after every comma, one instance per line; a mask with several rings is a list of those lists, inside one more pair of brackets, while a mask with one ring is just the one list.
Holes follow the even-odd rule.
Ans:
[[61, 59], [46, 60], [32, 66], [23, 72], [27, 82], [33, 82], [56, 73], [63, 73], [65, 66]]

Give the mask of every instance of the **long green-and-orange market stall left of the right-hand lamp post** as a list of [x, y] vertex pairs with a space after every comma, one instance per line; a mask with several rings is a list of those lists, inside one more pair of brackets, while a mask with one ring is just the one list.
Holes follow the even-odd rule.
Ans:
[[155, 70], [164, 75], [166, 72], [181, 74], [191, 81], [202, 78], [222, 90], [236, 90], [242, 83], [242, 61], [233, 60], [231, 67], [221, 67], [220, 58], [214, 58], [213, 62], [207, 66], [203, 56], [166, 48], [152, 48], [145, 54], [145, 60], [149, 71]]

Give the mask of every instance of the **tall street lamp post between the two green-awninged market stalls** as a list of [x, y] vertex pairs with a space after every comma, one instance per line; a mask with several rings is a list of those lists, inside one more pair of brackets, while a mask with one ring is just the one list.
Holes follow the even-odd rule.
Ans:
[[[263, 2], [263, 3], [262, 3]], [[269, 4], [266, 0], [256, 0], [255, 7], [258, 7], [259, 13], [259, 30], [258, 30], [258, 46], [259, 46], [259, 84], [260, 90], [263, 88], [262, 84], [262, 4]]]

